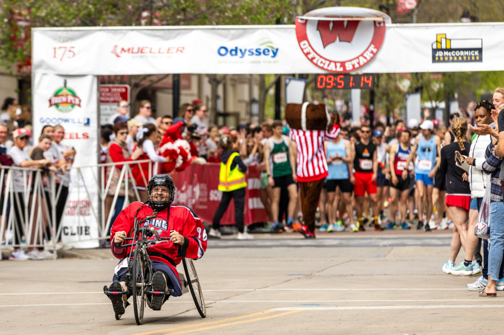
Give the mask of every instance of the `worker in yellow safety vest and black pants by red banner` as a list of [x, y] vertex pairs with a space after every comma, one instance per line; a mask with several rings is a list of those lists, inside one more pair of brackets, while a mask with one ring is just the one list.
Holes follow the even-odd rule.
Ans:
[[243, 208], [245, 206], [245, 189], [247, 182], [245, 181], [245, 172], [247, 166], [241, 159], [236, 150], [238, 149], [239, 141], [236, 136], [224, 135], [220, 139], [221, 153], [221, 168], [219, 173], [219, 191], [222, 191], [221, 202], [215, 211], [212, 228], [208, 235], [210, 237], [220, 238], [219, 231], [220, 220], [226, 212], [231, 199], [234, 199], [234, 220], [236, 228], [238, 228], [238, 239], [252, 239], [254, 236], [244, 231], [243, 227]]

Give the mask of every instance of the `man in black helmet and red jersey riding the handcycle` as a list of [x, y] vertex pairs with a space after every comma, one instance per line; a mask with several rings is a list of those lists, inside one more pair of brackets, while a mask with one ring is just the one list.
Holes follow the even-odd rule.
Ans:
[[[147, 187], [147, 202], [133, 202], [124, 208], [115, 219], [111, 231], [112, 254], [121, 261], [114, 271], [113, 282], [107, 291], [127, 291], [126, 273], [131, 247], [122, 247], [124, 239], [134, 232], [135, 218], [151, 218], [143, 226], [152, 226], [160, 237], [169, 237], [169, 242], [152, 244], [147, 254], [152, 260], [154, 275], [152, 291], [173, 290], [171, 295], [182, 295], [176, 266], [182, 258], [200, 259], [207, 249], [207, 232], [201, 219], [188, 207], [171, 206], [175, 197], [175, 184], [168, 175], [156, 175]], [[153, 236], [152, 238], [156, 238]], [[116, 314], [124, 314], [129, 303], [126, 294], [109, 296]], [[160, 310], [165, 295], [147, 297], [147, 305]]]

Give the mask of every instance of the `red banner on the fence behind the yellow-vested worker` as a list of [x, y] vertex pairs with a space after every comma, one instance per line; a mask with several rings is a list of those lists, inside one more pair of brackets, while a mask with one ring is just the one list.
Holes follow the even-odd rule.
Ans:
[[[219, 206], [222, 191], [219, 185], [220, 164], [196, 165], [191, 164], [182, 172], [171, 175], [175, 182], [176, 192], [174, 205], [185, 205], [207, 222], [212, 222], [215, 211]], [[268, 215], [261, 202], [261, 172], [256, 166], [249, 166], [246, 173], [247, 192], [245, 195], [244, 223], [268, 221]], [[234, 202], [231, 200], [221, 224], [234, 224]]]

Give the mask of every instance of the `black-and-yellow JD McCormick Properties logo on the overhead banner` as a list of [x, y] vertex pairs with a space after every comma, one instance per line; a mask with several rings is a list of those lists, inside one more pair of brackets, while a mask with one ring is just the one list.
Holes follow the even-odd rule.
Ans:
[[450, 39], [436, 34], [432, 43], [433, 63], [467, 63], [483, 61], [483, 39]]

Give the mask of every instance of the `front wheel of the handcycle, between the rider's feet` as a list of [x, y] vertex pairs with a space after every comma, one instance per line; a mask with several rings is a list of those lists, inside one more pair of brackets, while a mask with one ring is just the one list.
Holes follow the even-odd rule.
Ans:
[[133, 308], [135, 310], [135, 321], [138, 325], [144, 322], [145, 307], [145, 260], [140, 247], [135, 248], [132, 266], [132, 294]]

